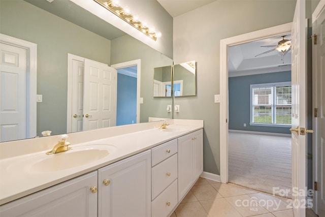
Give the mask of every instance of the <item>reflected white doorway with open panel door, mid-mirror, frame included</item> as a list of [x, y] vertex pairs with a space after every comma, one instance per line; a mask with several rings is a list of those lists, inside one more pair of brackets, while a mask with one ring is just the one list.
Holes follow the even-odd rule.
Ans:
[[68, 55], [68, 132], [116, 126], [116, 70]]

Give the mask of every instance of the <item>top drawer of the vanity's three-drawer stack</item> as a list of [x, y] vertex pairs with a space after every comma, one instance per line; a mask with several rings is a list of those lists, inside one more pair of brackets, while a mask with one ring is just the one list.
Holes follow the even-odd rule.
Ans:
[[152, 166], [158, 164], [161, 161], [171, 157], [177, 152], [177, 139], [166, 142], [162, 145], [151, 149], [151, 162]]

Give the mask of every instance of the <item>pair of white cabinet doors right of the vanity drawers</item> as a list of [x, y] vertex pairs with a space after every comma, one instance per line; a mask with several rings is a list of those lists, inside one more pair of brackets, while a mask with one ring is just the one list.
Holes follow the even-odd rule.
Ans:
[[178, 138], [178, 201], [203, 172], [203, 130]]

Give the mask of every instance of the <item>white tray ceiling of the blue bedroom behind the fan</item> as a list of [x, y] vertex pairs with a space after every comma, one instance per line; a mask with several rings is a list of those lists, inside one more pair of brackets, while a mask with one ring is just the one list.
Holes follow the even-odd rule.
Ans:
[[[285, 39], [291, 39], [287, 34]], [[273, 47], [261, 47], [277, 45], [282, 40], [281, 36], [253, 41], [229, 48], [229, 76], [243, 76], [270, 72], [282, 72], [291, 70], [291, 50], [283, 56], [277, 50], [256, 56], [273, 49]], [[255, 57], [256, 56], [256, 57]]]

